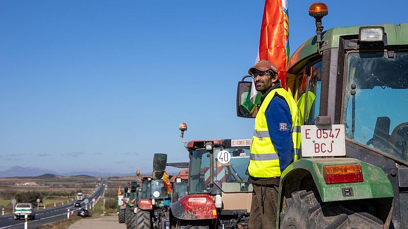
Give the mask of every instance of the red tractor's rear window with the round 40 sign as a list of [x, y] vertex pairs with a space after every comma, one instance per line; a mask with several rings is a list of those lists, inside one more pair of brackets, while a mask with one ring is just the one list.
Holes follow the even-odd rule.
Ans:
[[[214, 162], [214, 183], [223, 192], [248, 192], [248, 175], [245, 174], [249, 164], [249, 147], [246, 148], [225, 148], [230, 154], [228, 163]], [[214, 155], [220, 152], [214, 150]]]

